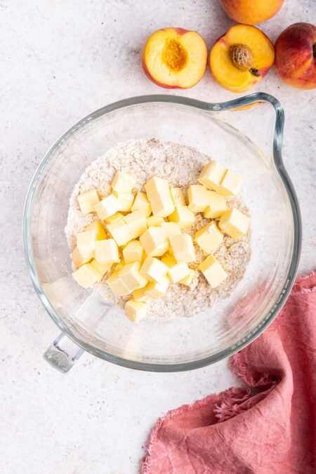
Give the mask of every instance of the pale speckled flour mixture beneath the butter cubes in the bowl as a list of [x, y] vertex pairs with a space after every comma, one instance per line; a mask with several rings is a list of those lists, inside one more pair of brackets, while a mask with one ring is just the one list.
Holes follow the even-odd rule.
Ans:
[[[153, 176], [160, 176], [169, 180], [169, 184], [183, 188], [186, 195], [186, 188], [190, 184], [197, 184], [197, 176], [202, 169], [202, 165], [209, 162], [211, 158], [200, 153], [194, 148], [178, 143], [161, 142], [156, 139], [136, 140], [126, 143], [119, 143], [108, 150], [102, 157], [99, 157], [86, 169], [79, 182], [74, 187], [70, 198], [70, 209], [68, 212], [67, 226], [65, 234], [69, 246], [74, 249], [76, 245], [76, 234], [84, 230], [84, 227], [91, 223], [93, 214], [84, 216], [79, 210], [77, 196], [81, 192], [98, 188], [100, 195], [105, 196], [111, 192], [110, 183], [116, 171], [124, 171], [136, 176], [136, 190], [141, 190], [143, 185]], [[220, 161], [220, 157], [218, 157]], [[249, 211], [243, 204], [240, 197], [227, 199], [228, 206], [234, 206], [249, 216]], [[185, 230], [190, 235], [194, 235], [197, 230], [209, 223], [209, 219], [204, 219], [202, 213], [196, 213], [196, 223], [192, 228]], [[246, 265], [251, 256], [250, 246], [251, 230], [247, 235], [239, 239], [224, 237], [223, 243], [214, 253], [216, 258], [228, 278], [216, 289], [212, 289], [206, 282], [201, 272], [197, 272], [191, 287], [182, 284], [171, 284], [166, 296], [152, 301], [147, 312], [148, 317], [190, 317], [205, 310], [216, 303], [219, 298], [227, 298], [237, 286], [237, 283], [244, 276]], [[195, 246], [197, 263], [190, 264], [196, 268], [206, 254]], [[96, 284], [96, 287], [107, 301], [116, 302], [124, 306], [126, 297], [115, 297], [106, 284], [109, 274]]]

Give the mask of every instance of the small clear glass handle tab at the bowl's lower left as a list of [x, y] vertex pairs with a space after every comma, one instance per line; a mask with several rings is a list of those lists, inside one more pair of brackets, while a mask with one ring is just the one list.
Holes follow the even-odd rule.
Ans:
[[60, 333], [44, 353], [44, 359], [62, 374], [66, 374], [83, 353], [84, 350], [79, 345]]

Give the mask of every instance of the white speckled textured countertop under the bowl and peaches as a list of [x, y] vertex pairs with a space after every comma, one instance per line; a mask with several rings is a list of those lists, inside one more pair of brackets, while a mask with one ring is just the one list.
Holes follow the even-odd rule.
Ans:
[[[293, 22], [315, 19], [314, 0], [284, 3], [279, 15], [262, 25], [272, 40]], [[235, 97], [213, 82], [209, 70], [188, 91], [166, 91], [148, 81], [140, 67], [140, 51], [154, 29], [197, 29], [211, 46], [232, 24], [218, 0], [164, 0], [157, 8], [158, 4], [153, 0], [0, 2], [0, 472], [4, 474], [136, 473], [147, 435], [159, 416], [236, 383], [225, 361], [192, 372], [152, 374], [84, 355], [69, 374], [62, 375], [41, 357], [58, 329], [29, 282], [21, 221], [29, 181], [48, 147], [75, 121], [121, 98], [177, 93], [217, 102]], [[311, 199], [313, 195], [315, 202], [315, 91], [285, 86], [274, 70], [259, 88], [275, 95], [285, 109], [284, 162], [303, 214], [300, 272], [308, 272], [316, 261]], [[261, 136], [254, 126], [254, 115], [237, 112], [234, 120], [259, 143], [270, 142], [270, 136]]]

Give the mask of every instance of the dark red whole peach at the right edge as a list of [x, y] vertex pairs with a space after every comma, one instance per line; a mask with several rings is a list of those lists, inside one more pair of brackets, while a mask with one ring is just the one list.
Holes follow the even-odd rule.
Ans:
[[290, 86], [316, 88], [316, 27], [294, 23], [284, 29], [275, 44], [277, 74]]

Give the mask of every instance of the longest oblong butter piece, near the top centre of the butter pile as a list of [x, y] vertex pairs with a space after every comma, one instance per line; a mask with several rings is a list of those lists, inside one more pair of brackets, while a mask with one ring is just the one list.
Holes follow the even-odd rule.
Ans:
[[147, 197], [154, 216], [169, 216], [174, 211], [169, 183], [163, 178], [152, 178], [145, 184]]

